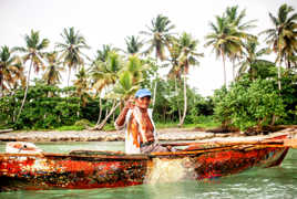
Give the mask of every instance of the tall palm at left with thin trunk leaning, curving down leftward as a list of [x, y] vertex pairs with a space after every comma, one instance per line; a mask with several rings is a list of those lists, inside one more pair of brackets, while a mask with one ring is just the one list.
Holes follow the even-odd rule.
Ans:
[[28, 76], [27, 76], [27, 84], [25, 84], [25, 90], [24, 90], [24, 96], [22, 100], [22, 104], [17, 117], [17, 121], [19, 119], [25, 98], [28, 94], [28, 88], [29, 88], [29, 82], [30, 82], [30, 75], [31, 75], [31, 70], [32, 66], [34, 67], [34, 71], [38, 73], [40, 69], [44, 69], [44, 64], [42, 62], [42, 59], [44, 56], [43, 50], [49, 46], [50, 41], [48, 39], [40, 39], [39, 31], [33, 31], [31, 30], [31, 34], [25, 34], [24, 35], [24, 41], [25, 41], [25, 48], [16, 48], [17, 51], [20, 51], [22, 53], [25, 53], [23, 55], [23, 62], [25, 63], [27, 61], [30, 60], [30, 66], [28, 71]]

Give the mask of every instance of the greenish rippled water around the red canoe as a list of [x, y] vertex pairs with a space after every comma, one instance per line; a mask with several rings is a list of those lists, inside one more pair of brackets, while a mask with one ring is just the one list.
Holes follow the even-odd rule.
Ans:
[[[38, 146], [51, 153], [72, 149], [123, 150], [124, 144], [114, 143], [49, 143]], [[0, 143], [0, 151], [4, 144]], [[141, 185], [125, 188], [84, 190], [38, 190], [0, 192], [3, 199], [192, 199], [192, 198], [297, 198], [297, 150], [289, 150], [281, 166], [255, 169], [216, 180]]]

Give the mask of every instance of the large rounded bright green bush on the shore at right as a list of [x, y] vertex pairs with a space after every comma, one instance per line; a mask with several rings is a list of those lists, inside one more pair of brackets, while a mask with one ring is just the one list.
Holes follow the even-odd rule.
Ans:
[[286, 116], [284, 100], [274, 80], [247, 78], [233, 84], [227, 91], [216, 91], [215, 116], [223, 125], [240, 129], [272, 124], [275, 117]]

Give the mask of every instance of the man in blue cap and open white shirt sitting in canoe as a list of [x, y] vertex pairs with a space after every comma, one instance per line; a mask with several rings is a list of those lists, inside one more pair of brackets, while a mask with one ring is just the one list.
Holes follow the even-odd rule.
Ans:
[[114, 126], [116, 129], [125, 127], [126, 154], [148, 154], [152, 151], [171, 151], [157, 143], [157, 134], [152, 119], [151, 92], [147, 88], [139, 90], [134, 100], [130, 98]]

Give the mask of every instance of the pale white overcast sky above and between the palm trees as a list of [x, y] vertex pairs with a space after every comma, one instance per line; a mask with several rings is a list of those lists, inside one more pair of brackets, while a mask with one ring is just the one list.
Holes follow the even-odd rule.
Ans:
[[[190, 71], [188, 83], [207, 96], [224, 84], [222, 59], [212, 53], [212, 48], [204, 48], [209, 22], [227, 7], [238, 6], [246, 9], [245, 21], [257, 20], [250, 33], [258, 34], [272, 28], [268, 13], [276, 15], [283, 3], [297, 11], [297, 0], [0, 0], [0, 46], [23, 46], [23, 36], [33, 29], [51, 41], [49, 49], [53, 50], [57, 42], [63, 42], [62, 30], [74, 27], [91, 46], [88, 55], [94, 57], [103, 44], [125, 49], [126, 36], [145, 38], [140, 31], [146, 31], [152, 19], [163, 14], [175, 24], [173, 32], [187, 32], [199, 41], [197, 52], [204, 57]], [[226, 67], [231, 82], [232, 64], [226, 62]], [[66, 85], [66, 73], [62, 75]]]

